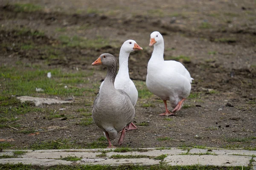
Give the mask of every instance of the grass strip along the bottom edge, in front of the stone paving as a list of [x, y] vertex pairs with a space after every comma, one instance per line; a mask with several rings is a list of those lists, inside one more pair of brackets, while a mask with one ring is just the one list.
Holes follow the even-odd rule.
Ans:
[[[22, 163], [18, 164], [2, 164], [1, 168], [4, 170], [45, 170], [45, 167], [38, 167], [32, 165], [25, 165]], [[47, 167], [49, 170], [250, 170], [250, 167], [218, 167], [218, 166], [201, 166], [189, 165], [189, 166], [180, 166], [180, 165], [167, 165], [165, 163], [160, 163], [158, 165], [150, 166], [140, 166], [140, 165], [73, 165], [72, 167], [68, 165], [57, 165], [53, 167]]]

